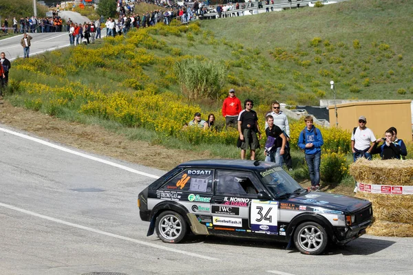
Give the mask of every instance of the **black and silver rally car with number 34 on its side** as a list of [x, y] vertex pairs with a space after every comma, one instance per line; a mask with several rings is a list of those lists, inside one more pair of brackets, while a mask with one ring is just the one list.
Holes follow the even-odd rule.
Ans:
[[180, 164], [138, 195], [140, 219], [162, 241], [189, 233], [272, 238], [320, 254], [372, 223], [367, 200], [310, 192], [272, 162], [209, 159]]

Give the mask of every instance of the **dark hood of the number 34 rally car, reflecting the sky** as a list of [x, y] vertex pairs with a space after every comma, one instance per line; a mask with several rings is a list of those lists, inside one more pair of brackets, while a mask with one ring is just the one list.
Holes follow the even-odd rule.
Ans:
[[371, 204], [367, 199], [358, 199], [326, 192], [308, 192], [300, 197], [291, 197], [287, 201], [312, 207], [321, 206], [322, 208], [345, 212], [354, 212]]

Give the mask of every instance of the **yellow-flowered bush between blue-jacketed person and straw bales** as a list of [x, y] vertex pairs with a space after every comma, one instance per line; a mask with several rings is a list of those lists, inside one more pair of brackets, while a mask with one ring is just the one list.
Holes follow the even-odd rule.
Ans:
[[339, 183], [348, 175], [346, 154], [326, 150], [321, 155], [320, 178], [324, 182]]

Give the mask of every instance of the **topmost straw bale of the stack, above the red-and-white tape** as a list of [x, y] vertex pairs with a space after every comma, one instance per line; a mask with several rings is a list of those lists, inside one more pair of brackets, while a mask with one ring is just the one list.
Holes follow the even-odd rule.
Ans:
[[350, 165], [350, 175], [363, 184], [413, 186], [413, 159], [357, 159]]

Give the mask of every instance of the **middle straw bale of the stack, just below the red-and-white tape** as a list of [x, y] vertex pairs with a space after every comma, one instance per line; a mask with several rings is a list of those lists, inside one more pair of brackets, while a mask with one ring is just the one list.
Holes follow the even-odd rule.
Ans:
[[368, 199], [376, 221], [393, 221], [413, 225], [413, 195], [384, 195], [357, 192], [355, 197]]

